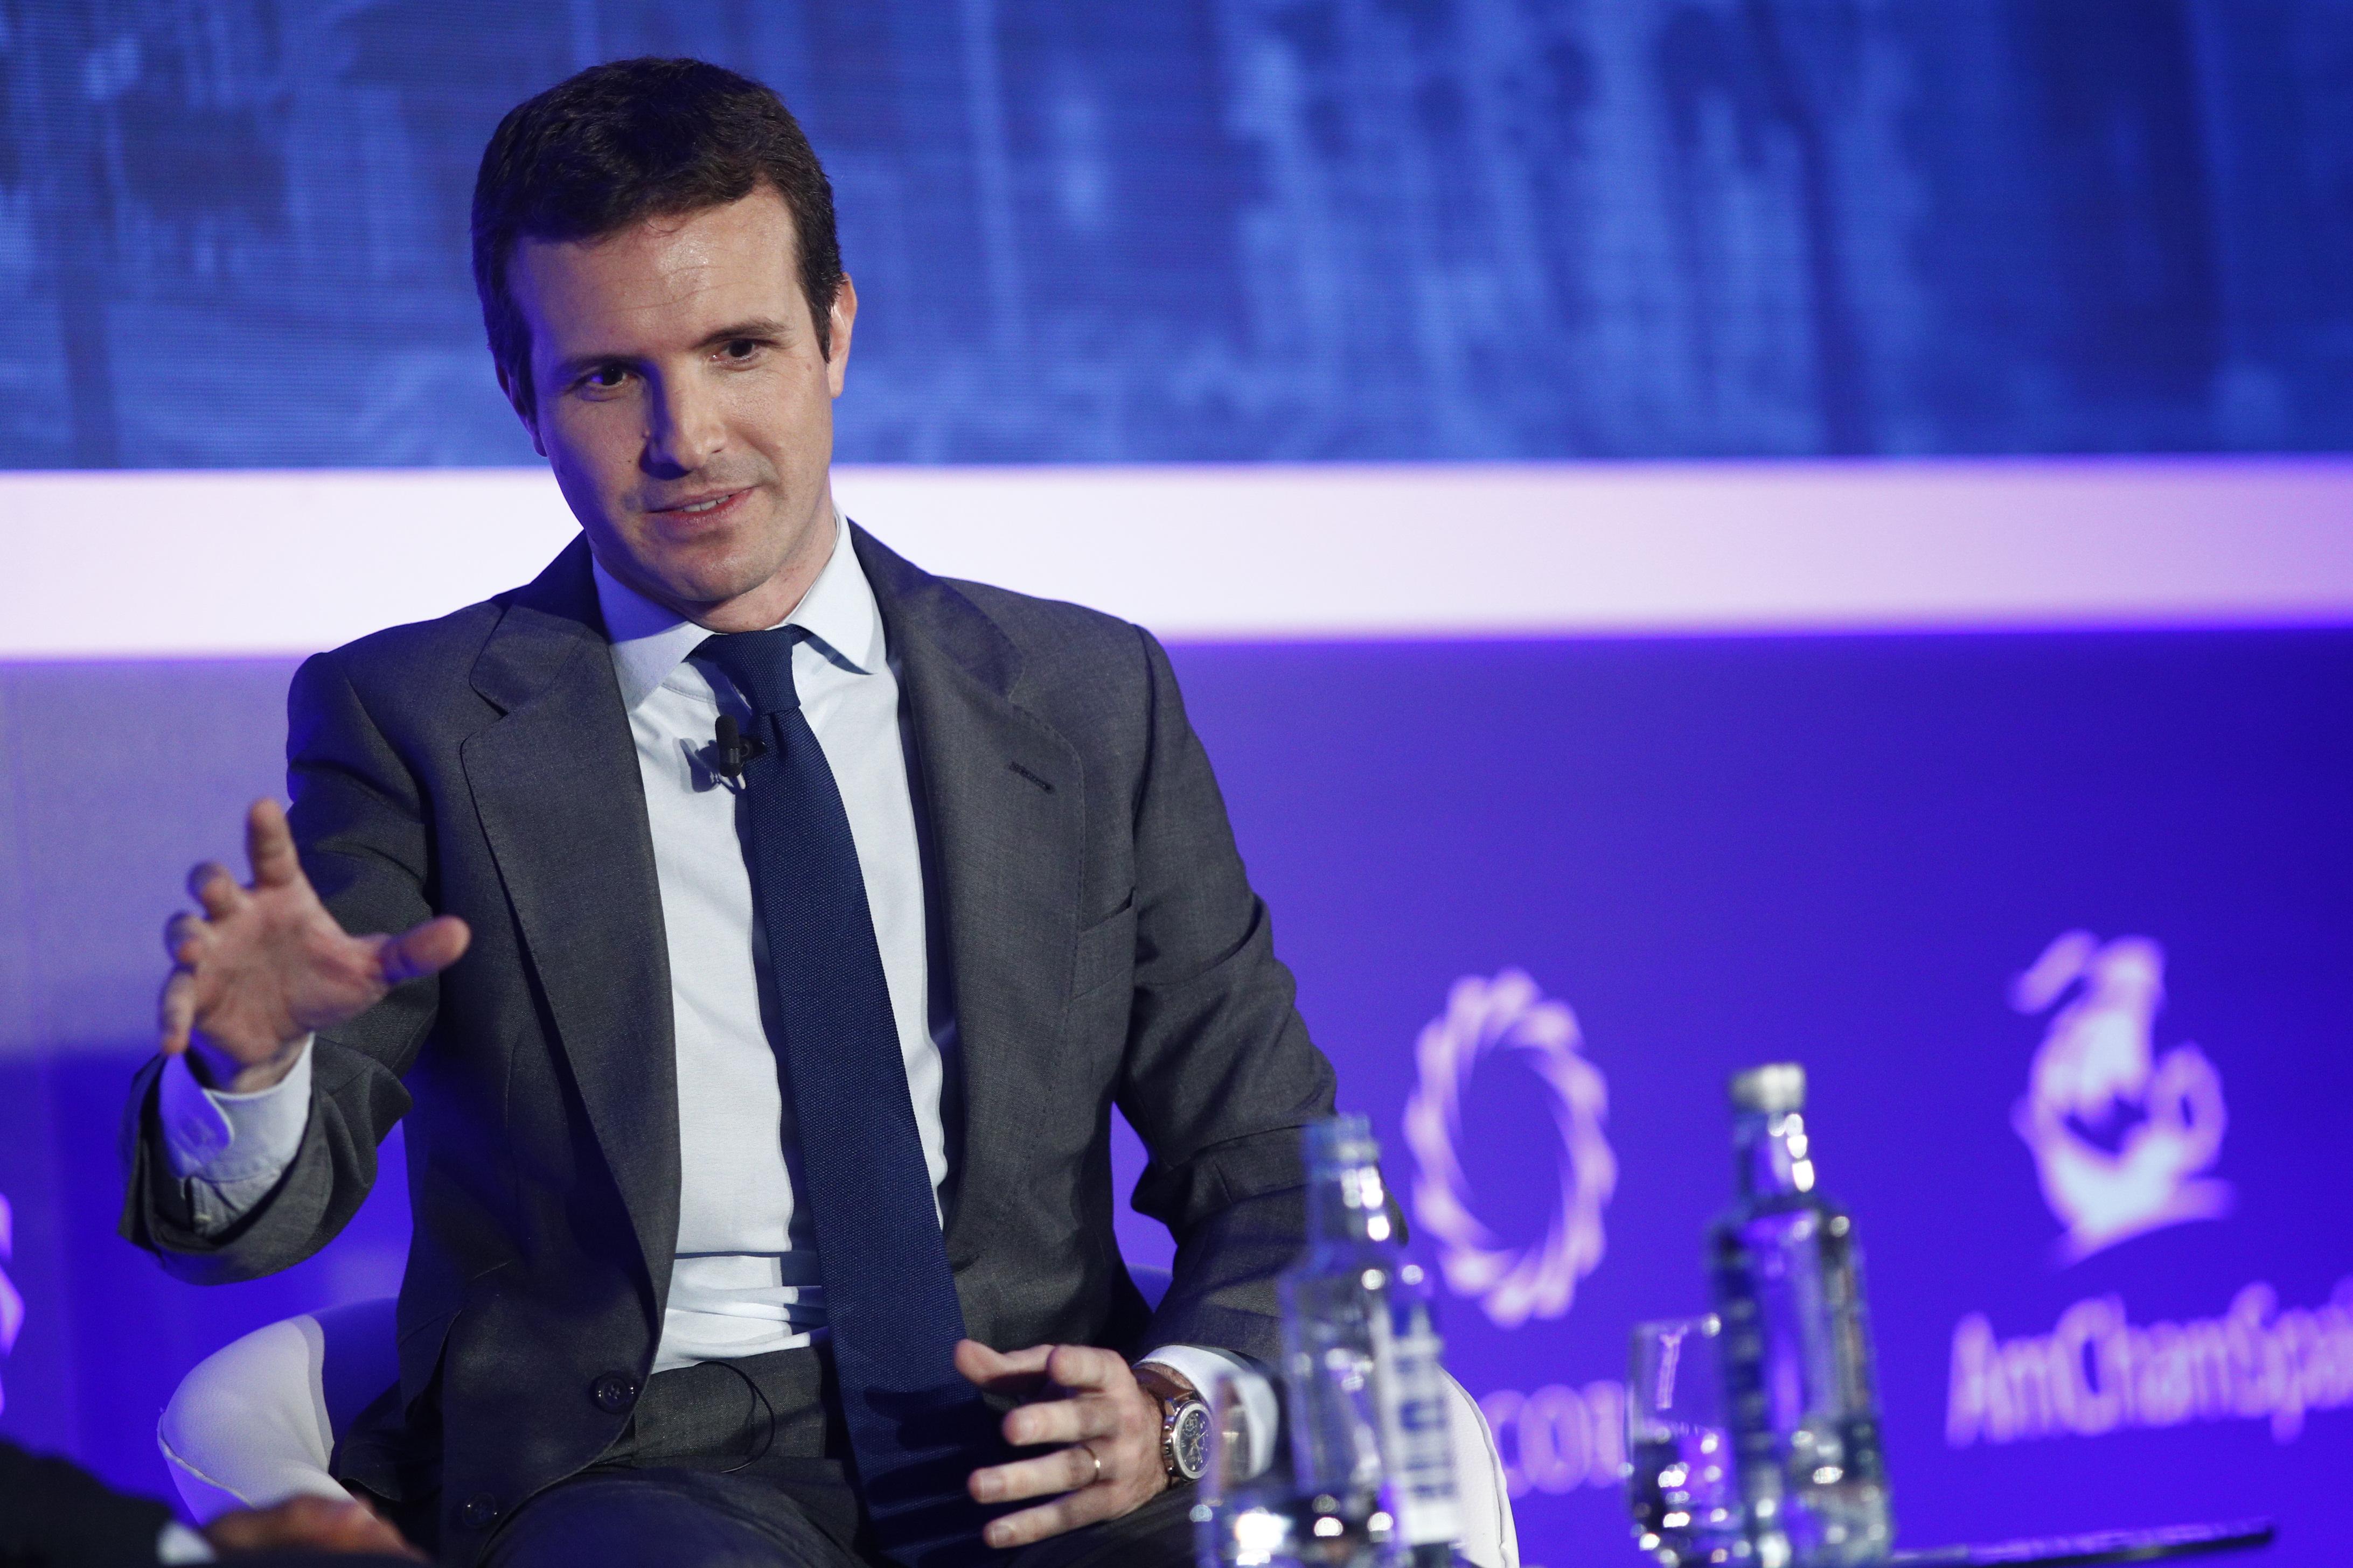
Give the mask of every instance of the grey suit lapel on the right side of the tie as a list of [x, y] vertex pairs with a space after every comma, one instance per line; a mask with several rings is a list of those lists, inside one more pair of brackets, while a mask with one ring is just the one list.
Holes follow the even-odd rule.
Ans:
[[896, 651], [936, 846], [965, 1081], [948, 1262], [965, 1267], [995, 1229], [993, 1208], [1024, 1197], [991, 1131], [1028, 1119], [1016, 1100], [1059, 1037], [1085, 867], [1085, 778], [1071, 743], [1014, 701], [1021, 654], [1005, 632], [864, 529], [852, 541]]

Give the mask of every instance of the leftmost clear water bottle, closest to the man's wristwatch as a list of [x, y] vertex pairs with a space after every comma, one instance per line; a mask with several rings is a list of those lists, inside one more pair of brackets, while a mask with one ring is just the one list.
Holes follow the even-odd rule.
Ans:
[[1282, 1392], [1292, 1434], [1297, 1535], [1308, 1563], [1386, 1563], [1379, 1349], [1398, 1239], [1379, 1145], [1362, 1117], [1306, 1128], [1308, 1244], [1280, 1281]]

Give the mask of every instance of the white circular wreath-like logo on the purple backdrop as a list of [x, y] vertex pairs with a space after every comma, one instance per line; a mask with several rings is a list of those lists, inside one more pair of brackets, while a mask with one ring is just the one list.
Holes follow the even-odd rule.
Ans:
[[[1457, 980], [1445, 1016], [1421, 1030], [1414, 1051], [1419, 1072], [1405, 1100], [1414, 1218], [1438, 1241], [1447, 1288], [1478, 1300], [1497, 1328], [1565, 1314], [1577, 1281], [1602, 1260], [1602, 1208], [1617, 1192], [1617, 1154], [1602, 1138], [1609, 1086], [1579, 1056], [1581, 1046], [1569, 1004], [1546, 997], [1522, 971], [1506, 969], [1492, 980]], [[1551, 1091], [1553, 1126], [1560, 1131], [1558, 1201], [1544, 1237], [1529, 1246], [1511, 1246], [1480, 1225], [1454, 1154], [1464, 1147], [1464, 1086], [1480, 1058], [1494, 1051], [1527, 1058]]]

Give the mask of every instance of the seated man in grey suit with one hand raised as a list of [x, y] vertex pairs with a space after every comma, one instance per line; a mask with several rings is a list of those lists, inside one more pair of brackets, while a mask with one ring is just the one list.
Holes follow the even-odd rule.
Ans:
[[296, 675], [292, 811], [167, 933], [125, 1234], [282, 1269], [405, 1119], [336, 1472], [452, 1561], [1186, 1561], [1200, 1385], [1273, 1441], [1332, 1070], [1165, 654], [838, 515], [856, 292], [765, 87], [522, 103], [475, 277], [581, 538]]

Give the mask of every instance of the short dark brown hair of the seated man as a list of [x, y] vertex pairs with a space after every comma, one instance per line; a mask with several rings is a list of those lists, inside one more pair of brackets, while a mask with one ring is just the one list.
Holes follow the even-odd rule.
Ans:
[[699, 59], [621, 59], [518, 103], [473, 181], [473, 287], [489, 355], [529, 416], [532, 334], [506, 266], [518, 240], [593, 240], [640, 219], [701, 212], [774, 186], [793, 214], [800, 292], [833, 355], [842, 284], [833, 186], [772, 89]]

